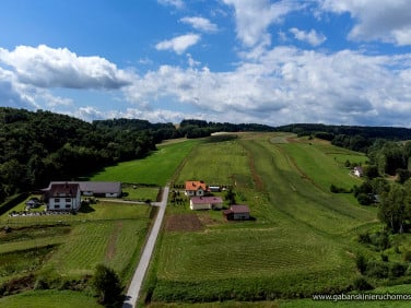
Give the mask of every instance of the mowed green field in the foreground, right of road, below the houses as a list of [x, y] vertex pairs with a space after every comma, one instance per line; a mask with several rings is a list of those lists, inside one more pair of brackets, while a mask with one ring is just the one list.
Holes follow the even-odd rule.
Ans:
[[[309, 258], [308, 258], [309, 256]], [[227, 277], [284, 279], [307, 272], [353, 270], [354, 263], [332, 240], [290, 226], [167, 233], [158, 279], [210, 281]]]

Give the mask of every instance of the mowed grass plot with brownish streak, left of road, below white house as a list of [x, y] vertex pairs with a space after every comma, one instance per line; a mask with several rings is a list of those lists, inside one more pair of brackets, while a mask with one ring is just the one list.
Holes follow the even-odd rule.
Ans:
[[[148, 230], [148, 221], [87, 222], [73, 226], [45, 269], [61, 275], [90, 274], [98, 263], [122, 272], [140, 251]], [[113, 237], [114, 235], [114, 237]]]

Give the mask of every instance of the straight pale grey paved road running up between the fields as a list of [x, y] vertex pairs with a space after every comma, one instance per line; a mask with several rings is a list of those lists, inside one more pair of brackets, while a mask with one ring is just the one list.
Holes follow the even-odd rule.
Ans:
[[140, 263], [137, 266], [131, 284], [127, 291], [126, 300], [122, 304], [122, 308], [134, 307], [136, 301], [139, 298], [140, 288], [144, 280], [145, 272], [149, 268], [151, 254], [153, 253], [153, 250], [154, 250], [155, 240], [157, 239], [157, 235], [163, 223], [165, 208], [167, 206], [168, 191], [169, 191], [169, 187], [166, 186], [163, 191], [162, 202], [160, 202], [158, 204], [160, 210], [158, 210], [157, 216], [155, 217], [154, 225], [151, 228], [149, 239], [144, 247], [144, 251], [141, 254]]

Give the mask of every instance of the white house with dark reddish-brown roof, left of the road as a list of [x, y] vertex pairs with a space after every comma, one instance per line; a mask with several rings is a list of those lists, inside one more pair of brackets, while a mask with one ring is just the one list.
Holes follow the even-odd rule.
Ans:
[[48, 211], [78, 211], [81, 206], [79, 183], [50, 183], [45, 197]]

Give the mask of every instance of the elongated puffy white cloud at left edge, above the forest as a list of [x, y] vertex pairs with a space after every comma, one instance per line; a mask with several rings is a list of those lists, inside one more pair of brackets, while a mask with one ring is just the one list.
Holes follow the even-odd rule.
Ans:
[[120, 88], [130, 75], [101, 57], [80, 57], [67, 48], [17, 46], [0, 48], [0, 63], [12, 68], [21, 83], [37, 87]]

